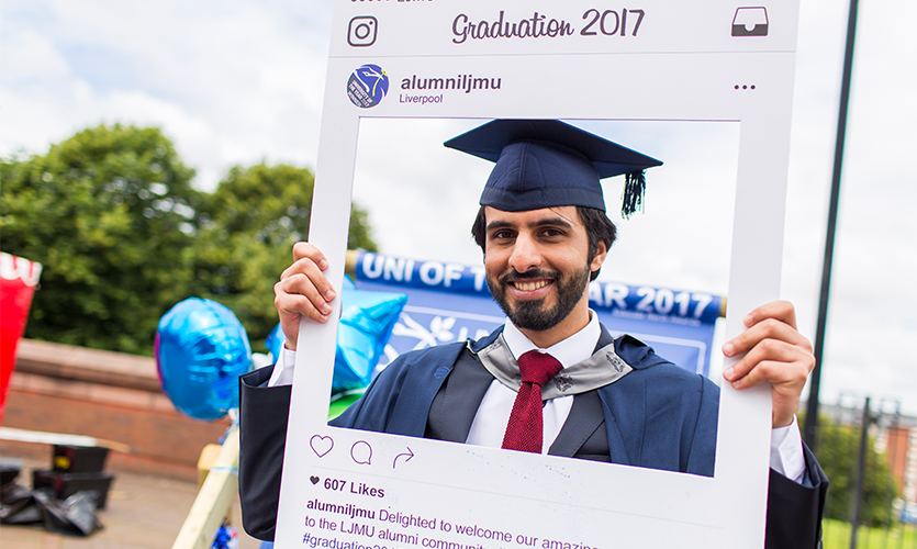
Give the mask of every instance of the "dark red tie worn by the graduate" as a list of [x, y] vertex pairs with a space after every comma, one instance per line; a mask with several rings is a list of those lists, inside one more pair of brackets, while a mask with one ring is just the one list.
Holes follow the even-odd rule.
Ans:
[[541, 385], [563, 367], [552, 356], [537, 350], [524, 354], [518, 362], [522, 386], [513, 403], [506, 434], [503, 435], [503, 448], [541, 453]]

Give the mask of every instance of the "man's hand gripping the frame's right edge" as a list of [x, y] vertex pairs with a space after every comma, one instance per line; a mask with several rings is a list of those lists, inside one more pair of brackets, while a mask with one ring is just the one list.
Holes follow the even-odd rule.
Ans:
[[723, 346], [723, 354], [746, 355], [723, 372], [735, 389], [771, 384], [772, 426], [793, 423], [808, 372], [815, 368], [812, 343], [796, 329], [796, 311], [786, 301], [762, 305], [745, 317], [742, 334]]

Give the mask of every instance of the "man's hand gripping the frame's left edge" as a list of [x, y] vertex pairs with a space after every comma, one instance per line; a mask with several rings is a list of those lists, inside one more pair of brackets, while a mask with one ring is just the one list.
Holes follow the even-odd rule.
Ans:
[[273, 306], [280, 316], [280, 327], [287, 335], [284, 346], [290, 350], [297, 350], [302, 316], [320, 323], [328, 322], [331, 302], [337, 294], [322, 272], [327, 268], [328, 260], [318, 248], [305, 242], [297, 243], [293, 246], [293, 265], [283, 271], [280, 282], [273, 284]]

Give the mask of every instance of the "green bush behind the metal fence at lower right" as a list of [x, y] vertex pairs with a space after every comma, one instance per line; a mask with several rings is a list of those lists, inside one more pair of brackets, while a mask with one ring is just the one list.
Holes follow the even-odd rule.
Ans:
[[[799, 421], [799, 425], [803, 421]], [[857, 460], [860, 456], [859, 426], [843, 425], [826, 417], [818, 421], [816, 457], [830, 481], [825, 517], [847, 520], [853, 513], [857, 482]], [[893, 517], [890, 502], [898, 493], [895, 479], [885, 453], [875, 450], [875, 437], [870, 435], [866, 445], [866, 467], [863, 482], [861, 524], [883, 526]]]

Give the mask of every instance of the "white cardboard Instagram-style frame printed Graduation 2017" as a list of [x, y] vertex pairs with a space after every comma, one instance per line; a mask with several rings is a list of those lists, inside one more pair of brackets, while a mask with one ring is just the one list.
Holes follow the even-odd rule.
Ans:
[[[779, 295], [798, 4], [768, 5], [763, 36], [733, 35], [737, 8], [723, 0], [649, 0], [633, 9], [581, 0], [338, 0], [309, 236], [331, 262], [326, 276], [339, 284], [344, 273], [364, 117], [737, 122], [726, 337], [737, 335], [743, 314]], [[367, 66], [376, 89], [360, 91]], [[388, 93], [379, 93], [380, 69]], [[443, 88], [428, 89], [429, 79]], [[610, 538], [638, 547], [761, 547], [767, 388], [723, 388], [714, 478], [339, 429], [326, 424], [339, 300], [334, 306], [332, 322], [300, 329], [299, 348], [310, 352], [297, 354], [278, 547], [316, 539], [604, 547]], [[350, 488], [337, 490], [338, 481]], [[378, 519], [343, 516], [334, 529], [322, 528], [314, 502], [378, 511]], [[383, 513], [425, 517], [434, 528], [388, 525]], [[490, 534], [460, 534], [454, 524]], [[380, 537], [389, 526], [402, 537]]]

